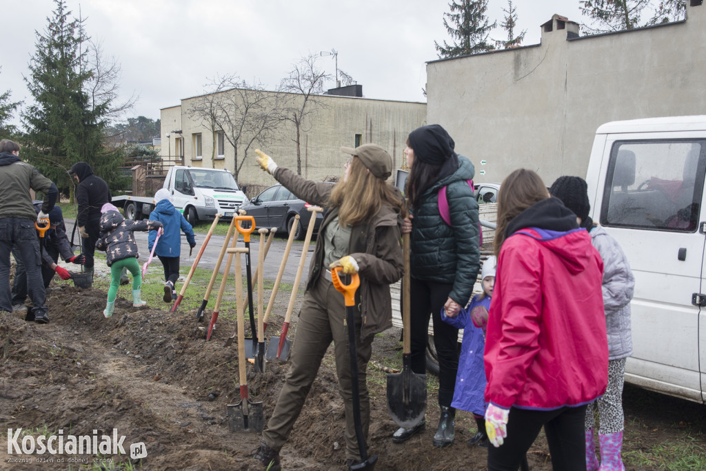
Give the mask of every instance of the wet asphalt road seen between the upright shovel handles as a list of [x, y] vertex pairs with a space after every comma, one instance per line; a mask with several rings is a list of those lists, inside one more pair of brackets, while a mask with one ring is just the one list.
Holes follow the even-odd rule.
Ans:
[[[71, 219], [65, 219], [64, 220], [66, 224], [66, 232], [68, 232], [68, 238], [71, 240], [71, 230], [73, 229], [73, 220]], [[140, 250], [140, 264], [144, 263], [147, 261], [148, 257], [150, 256], [150, 252], [148, 251], [148, 244], [147, 244], [147, 237], [148, 237], [148, 232], [135, 232], [135, 239], [138, 244], [138, 248]], [[198, 255], [198, 251], [201, 250], [201, 246], [203, 246], [203, 242], [206, 238], [206, 234], [199, 234], [196, 233], [196, 247], [193, 248], [193, 255], [189, 257], [189, 243], [186, 242], [186, 236], [182, 234], [181, 237], [181, 274], [183, 276], [186, 276], [187, 273], [189, 273], [189, 268], [193, 265], [193, 262], [196, 260], [196, 256]], [[223, 244], [225, 242], [225, 236], [222, 235], [212, 235], [208, 241], [208, 244], [206, 245], [203, 255], [201, 256], [201, 260], [198, 263], [198, 268], [205, 268], [208, 270], [213, 270], [215, 268], [216, 263], [218, 261], [218, 256], [220, 255], [220, 251], [223, 247]], [[265, 237], [265, 242], [266, 242], [266, 237]], [[74, 238], [74, 243], [78, 244], [78, 229], [76, 229], [76, 236]], [[306, 265], [304, 266], [304, 270], [301, 273], [301, 281], [299, 287], [303, 287], [304, 283], [306, 282], [306, 277], [309, 275], [309, 263], [311, 262], [311, 258], [313, 257], [313, 249], [314, 249], [314, 244], [316, 243], [316, 237], [313, 238], [311, 241], [311, 244], [309, 244], [309, 250], [307, 251], [306, 254]], [[230, 246], [230, 245], [229, 245]], [[243, 238], [242, 236], [238, 240], [238, 247], [244, 246], [243, 243]], [[287, 246], [287, 234], [285, 232], [280, 232], [275, 235], [272, 244], [270, 245], [270, 249], [267, 254], [267, 258], [265, 258], [265, 263], [264, 267], [265, 270], [263, 272], [263, 276], [265, 277], [265, 280], [271, 280], [275, 281], [275, 278], [277, 278], [277, 272], [280, 270], [280, 263], [282, 263], [282, 257], [285, 254], [285, 247]], [[252, 251], [252, 256], [251, 256], [251, 273], [254, 276], [255, 275], [255, 269], [257, 267], [258, 263], [258, 251], [259, 251], [259, 240], [258, 236], [253, 236], [251, 237], [251, 242], [250, 242], [250, 248]], [[288, 283], [292, 284], [294, 283], [294, 278], [297, 275], [297, 267], [299, 266], [299, 262], [301, 260], [301, 250], [304, 248], [304, 242], [301, 241], [294, 241], [292, 243], [292, 249], [289, 251], [289, 257], [287, 258], [287, 266], [285, 267], [285, 273], [282, 275], [282, 283]], [[78, 253], [78, 250], [77, 252]], [[227, 254], [223, 256], [223, 261], [220, 266], [220, 273], [223, 272], [226, 266], [227, 262]], [[155, 256], [155, 258], [157, 258]], [[159, 266], [159, 261], [154, 260], [152, 261], [152, 266], [153, 264], [157, 264]], [[245, 257], [242, 258], [242, 265], [243, 265], [243, 277], [245, 277]], [[231, 268], [233, 270], [233, 268]], [[245, 278], [243, 278], [245, 279]], [[254, 280], [253, 280], [254, 281]]]

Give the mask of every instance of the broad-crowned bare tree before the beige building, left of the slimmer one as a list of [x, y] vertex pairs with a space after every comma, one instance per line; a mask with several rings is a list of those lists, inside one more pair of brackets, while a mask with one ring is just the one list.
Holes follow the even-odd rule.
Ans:
[[253, 143], [270, 143], [284, 120], [281, 110], [279, 93], [265, 90], [261, 83], [248, 84], [229, 75], [214, 78], [210, 92], [197, 100], [190, 112], [200, 117], [212, 133], [223, 131], [234, 150], [233, 172], [237, 179]]

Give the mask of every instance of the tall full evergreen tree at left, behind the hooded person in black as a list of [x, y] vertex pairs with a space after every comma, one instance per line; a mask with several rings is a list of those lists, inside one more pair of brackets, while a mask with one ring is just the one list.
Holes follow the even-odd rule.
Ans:
[[64, 0], [54, 3], [56, 10], [47, 18], [47, 29], [35, 31], [35, 55], [30, 61], [30, 78], [25, 77], [35, 104], [22, 113], [28, 131], [23, 157], [73, 196], [73, 182], [67, 173], [71, 165], [88, 162], [109, 185], [119, 184], [116, 169], [122, 153], [102, 145], [112, 97], [96, 100], [100, 71], [88, 61], [90, 42], [83, 20], [71, 18]]

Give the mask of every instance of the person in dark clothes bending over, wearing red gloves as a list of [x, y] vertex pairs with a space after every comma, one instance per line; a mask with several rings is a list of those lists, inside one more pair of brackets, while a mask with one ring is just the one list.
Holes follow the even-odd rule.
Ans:
[[[41, 210], [41, 203], [35, 203], [35, 211]], [[54, 274], [59, 275], [62, 280], [71, 278], [71, 273], [56, 264], [59, 261], [59, 256], [64, 261], [71, 263], [83, 263], [83, 255], [73, 255], [71, 243], [66, 237], [66, 226], [64, 225], [64, 215], [61, 213], [59, 206], [54, 206], [54, 209], [49, 211], [49, 230], [44, 233], [44, 246], [42, 247], [42, 279], [44, 280], [44, 289], [49, 287]], [[27, 299], [27, 276], [25, 273], [25, 264], [19, 256], [20, 249], [18, 246], [13, 246], [12, 254], [17, 261], [15, 268], [15, 282], [12, 285], [12, 309], [13, 311], [25, 311], [25, 299]]]

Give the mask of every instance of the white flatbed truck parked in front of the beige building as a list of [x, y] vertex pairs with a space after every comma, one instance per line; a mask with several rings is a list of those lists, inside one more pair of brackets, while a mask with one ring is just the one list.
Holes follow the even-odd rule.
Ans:
[[[233, 217], [247, 200], [233, 174], [227, 170], [201, 167], [169, 168], [163, 188], [169, 190], [174, 207], [184, 213], [189, 224], [213, 220], [217, 213]], [[144, 196], [115, 196], [112, 203], [124, 210], [125, 217], [140, 220], [155, 209], [155, 198]]]

